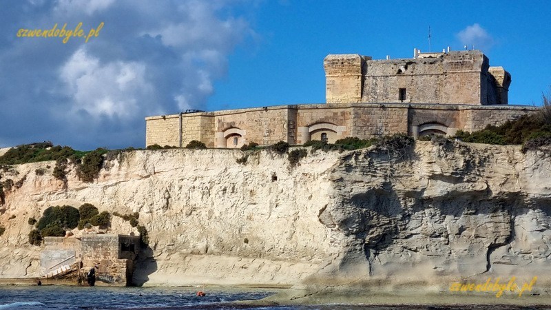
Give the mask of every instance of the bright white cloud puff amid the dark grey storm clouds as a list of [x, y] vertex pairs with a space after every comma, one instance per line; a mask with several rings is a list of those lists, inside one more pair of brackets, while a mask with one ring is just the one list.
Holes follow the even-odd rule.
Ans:
[[79, 48], [60, 70], [73, 105], [68, 116], [85, 111], [93, 117], [129, 118], [147, 110], [141, 106], [153, 86], [145, 79], [145, 65], [114, 61], [101, 64]]

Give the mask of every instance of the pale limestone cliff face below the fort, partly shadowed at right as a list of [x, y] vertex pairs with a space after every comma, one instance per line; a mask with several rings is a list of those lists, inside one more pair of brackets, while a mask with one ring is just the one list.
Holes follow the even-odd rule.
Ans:
[[[38, 276], [41, 248], [27, 242], [28, 218], [92, 203], [139, 212], [150, 248], [135, 280], [145, 285], [549, 282], [549, 152], [417, 142], [402, 154], [318, 151], [297, 167], [269, 151], [245, 165], [241, 156], [135, 151], [107, 162], [94, 183], [70, 172], [66, 188], [51, 176], [53, 163], [1, 172], [24, 180], [0, 206], [0, 276]], [[114, 217], [111, 231], [133, 228]]]

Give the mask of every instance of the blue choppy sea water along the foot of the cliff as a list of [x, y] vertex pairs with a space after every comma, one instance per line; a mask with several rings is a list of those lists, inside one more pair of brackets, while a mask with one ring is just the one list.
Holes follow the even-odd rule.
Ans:
[[[249, 306], [236, 300], [259, 300], [271, 296], [275, 289], [209, 288], [205, 297], [196, 296], [191, 287], [63, 287], [0, 286], [0, 310], [3, 309], [549, 309], [547, 306], [463, 304], [435, 307], [419, 304], [366, 306], [351, 304], [318, 304], [309, 306]], [[390, 300], [392, 301], [392, 300]], [[435, 302], [436, 300], [433, 300]], [[430, 300], [428, 301], [430, 304]]]

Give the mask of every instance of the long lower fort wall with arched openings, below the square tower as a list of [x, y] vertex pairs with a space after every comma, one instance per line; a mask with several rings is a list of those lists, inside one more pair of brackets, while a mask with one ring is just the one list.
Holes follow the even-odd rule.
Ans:
[[198, 140], [207, 147], [235, 148], [250, 142], [302, 144], [326, 138], [334, 143], [347, 136], [395, 133], [453, 136], [457, 130], [472, 132], [501, 125], [536, 110], [514, 105], [338, 103], [174, 114], [146, 118], [146, 145], [185, 146]]

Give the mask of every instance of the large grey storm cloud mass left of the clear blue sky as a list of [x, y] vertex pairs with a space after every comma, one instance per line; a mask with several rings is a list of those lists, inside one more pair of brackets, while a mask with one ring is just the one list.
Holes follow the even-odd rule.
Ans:
[[[155, 114], [200, 108], [252, 31], [233, 1], [21, 1], [0, 11], [0, 147], [142, 146]], [[3, 4], [8, 7], [8, 5]], [[98, 37], [17, 37], [20, 28]]]

